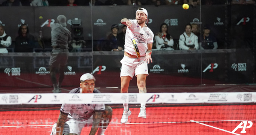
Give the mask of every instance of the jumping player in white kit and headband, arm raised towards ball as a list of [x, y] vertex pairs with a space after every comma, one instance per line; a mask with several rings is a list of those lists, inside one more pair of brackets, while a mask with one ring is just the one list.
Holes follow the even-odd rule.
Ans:
[[[154, 34], [145, 24], [148, 19], [148, 11], [144, 8], [138, 8], [136, 11], [136, 20], [128, 20], [123, 18], [121, 23], [127, 26], [125, 34], [125, 50], [120, 73], [121, 77], [121, 93], [128, 93], [130, 80], [134, 73], [137, 77], [137, 86], [139, 93], [146, 93], [146, 77], [148, 75], [148, 63], [151, 61], [151, 48]], [[128, 104], [123, 104], [123, 116], [121, 123], [128, 121], [131, 115]], [[141, 118], [146, 118], [146, 103], [140, 104]]]

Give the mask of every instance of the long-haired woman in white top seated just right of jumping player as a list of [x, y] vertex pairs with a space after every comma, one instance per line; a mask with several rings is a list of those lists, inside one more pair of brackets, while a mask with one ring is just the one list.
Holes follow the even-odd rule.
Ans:
[[174, 41], [172, 36], [168, 33], [167, 24], [162, 23], [160, 25], [159, 33], [155, 34], [155, 43], [157, 49], [164, 48], [166, 50], [174, 50]]

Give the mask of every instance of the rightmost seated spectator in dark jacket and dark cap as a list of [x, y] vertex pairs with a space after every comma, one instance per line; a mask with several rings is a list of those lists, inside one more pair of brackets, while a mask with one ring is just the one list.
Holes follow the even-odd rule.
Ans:
[[210, 27], [208, 25], [204, 26], [204, 34], [201, 35], [202, 42], [200, 44], [200, 49], [217, 49], [218, 43], [216, 37], [210, 33]]

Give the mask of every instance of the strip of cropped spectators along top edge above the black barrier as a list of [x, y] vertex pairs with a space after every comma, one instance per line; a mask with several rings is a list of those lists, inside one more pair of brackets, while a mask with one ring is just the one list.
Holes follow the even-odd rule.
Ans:
[[102, 5], [255, 4], [255, 0], [0, 0], [2, 6], [102, 6]]

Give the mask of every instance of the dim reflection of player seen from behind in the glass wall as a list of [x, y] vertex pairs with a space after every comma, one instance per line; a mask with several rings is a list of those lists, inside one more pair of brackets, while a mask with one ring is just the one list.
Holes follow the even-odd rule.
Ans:
[[[57, 23], [50, 24], [52, 28], [52, 52], [50, 57], [50, 76], [53, 85], [53, 93], [60, 93], [61, 83], [64, 80], [64, 69], [69, 58], [68, 42], [71, 40], [71, 32], [67, 29], [67, 18], [64, 15], [57, 17]], [[59, 70], [59, 81], [56, 72]]]

